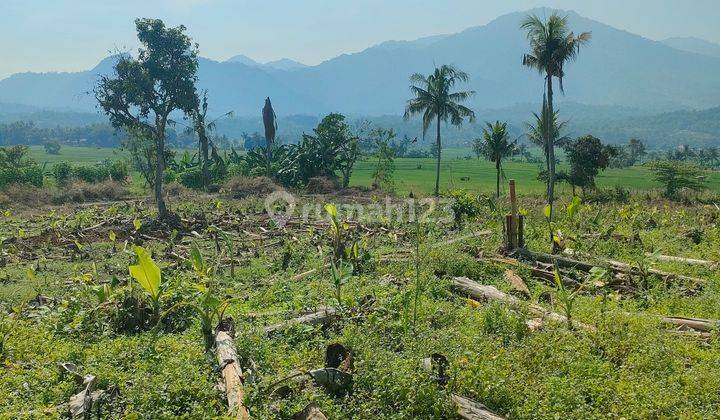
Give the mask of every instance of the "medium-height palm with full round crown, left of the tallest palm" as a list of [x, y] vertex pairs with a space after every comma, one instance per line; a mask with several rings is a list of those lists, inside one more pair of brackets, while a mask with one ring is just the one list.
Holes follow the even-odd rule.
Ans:
[[415, 73], [410, 76], [410, 91], [415, 95], [407, 101], [405, 106], [405, 119], [416, 114], [422, 114], [423, 135], [427, 132], [433, 121], [437, 122], [437, 169], [435, 173], [435, 196], [440, 194], [440, 123], [450, 120], [450, 124], [459, 126], [464, 118], [475, 120], [475, 113], [460, 104], [474, 95], [474, 91], [451, 92], [458, 82], [467, 82], [467, 73], [454, 66], [442, 65], [425, 77]]

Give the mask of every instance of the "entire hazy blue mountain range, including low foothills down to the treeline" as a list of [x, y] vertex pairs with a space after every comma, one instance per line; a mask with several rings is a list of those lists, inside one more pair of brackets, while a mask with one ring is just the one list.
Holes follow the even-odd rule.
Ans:
[[[414, 136], [418, 124], [397, 117], [410, 96], [408, 77], [428, 73], [435, 64], [451, 63], [470, 75], [468, 88], [477, 93], [469, 105], [478, 120], [508, 120], [519, 131], [530, 111], [538, 109], [543, 92], [542, 76], [521, 64], [528, 47], [519, 25], [528, 13], [551, 12], [511, 13], [455, 34], [387, 41], [316, 66], [289, 59], [260, 63], [244, 55], [224, 62], [200, 58], [199, 86], [209, 91], [211, 114], [232, 110], [238, 118], [254, 121], [264, 98], [270, 96], [281, 117], [306, 115], [314, 121], [338, 111], [406, 127]], [[720, 138], [720, 128], [710, 121], [720, 114], [715, 108], [720, 105], [720, 45], [697, 38], [652, 41], [572, 11], [561, 13], [569, 16], [575, 32], [592, 32], [590, 45], [567, 68], [566, 96], [556, 95], [562, 117], [571, 120], [574, 132], [592, 129], [610, 141], [623, 141], [631, 133], [652, 135], [656, 138], [651, 142], [658, 144], [682, 141], [683, 136], [686, 142], [702, 144]], [[0, 80], [0, 122], [102, 121], [100, 116], [73, 113], [97, 112], [93, 86], [100, 75], [113, 71], [116, 61], [117, 57], [108, 57], [83, 72], [19, 73]], [[708, 110], [695, 113], [698, 109]], [[696, 126], [683, 124], [681, 114]], [[668, 127], [666, 120], [679, 125]], [[236, 129], [229, 131], [238, 134]], [[456, 134], [466, 137], [474, 131], [469, 127], [465, 135], [464, 130]]]

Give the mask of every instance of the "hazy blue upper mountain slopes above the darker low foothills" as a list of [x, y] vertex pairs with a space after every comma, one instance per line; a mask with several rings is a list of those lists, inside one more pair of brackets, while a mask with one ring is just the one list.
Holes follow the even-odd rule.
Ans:
[[[200, 60], [199, 86], [208, 89], [211, 113], [233, 110], [258, 115], [266, 96], [279, 115], [400, 115], [410, 96], [408, 77], [429, 73], [434, 64], [455, 64], [470, 75], [477, 94], [469, 105], [480, 111], [537, 103], [542, 76], [521, 65], [528, 49], [520, 22], [528, 12], [501, 16], [484, 26], [415, 41], [388, 41], [316, 66], [289, 60], [260, 64], [246, 56], [225, 62]], [[550, 9], [529, 13], [545, 16]], [[575, 12], [575, 32], [592, 41], [567, 66], [565, 100], [588, 106], [626, 107], [645, 113], [720, 105], [720, 58], [681, 51], [662, 42], [615, 29]], [[86, 93], [112, 58], [79, 73], [22, 73], [0, 80], [0, 102], [39, 107], [95, 109]]]

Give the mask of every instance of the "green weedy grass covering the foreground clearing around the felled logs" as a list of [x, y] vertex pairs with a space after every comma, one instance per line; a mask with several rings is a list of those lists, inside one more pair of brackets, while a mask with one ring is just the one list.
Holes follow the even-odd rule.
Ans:
[[[164, 296], [178, 302], [192, 301], [189, 291], [198, 278], [173, 253], [189, 258], [196, 244], [211, 266], [221, 263], [209, 281], [220, 296], [235, 298], [227, 314], [235, 319], [238, 354], [244, 366], [250, 361], [256, 366], [255, 381], [246, 383], [253, 418], [292, 418], [310, 402], [337, 419], [452, 418], [452, 393], [510, 418], [703, 418], [720, 410], [717, 339], [705, 345], [672, 334], [654, 317], [720, 319], [720, 273], [715, 268], [652, 263], [708, 283], [689, 293], [688, 284], [653, 278], [646, 291], [608, 290], [607, 299], [584, 289], [574, 302], [573, 319], [594, 330], [569, 331], [564, 323], [550, 323], [531, 332], [525, 326], [529, 315], [524, 304], [513, 309], [469, 302], [449, 287], [452, 277], [467, 276], [509, 291], [503, 279], [507, 267], [478, 258], [492, 255], [501, 244], [504, 201], [497, 209], [483, 207], [464, 228], [451, 222], [424, 226], [420, 290], [414, 285], [415, 260], [407, 251], [415, 247], [415, 226], [377, 220], [348, 227], [347, 237], [361, 239], [371, 260], [343, 285], [341, 297], [347, 308], [372, 298], [372, 310], [343, 315], [330, 328], [294, 326], [268, 338], [266, 325], [333, 304], [335, 286], [323, 268], [332, 248], [329, 229], [324, 220], [280, 229], [263, 214], [261, 199], [217, 199], [221, 206], [205, 196], [170, 203], [187, 229], [197, 232], [172, 245], [162, 230], [130, 238], [136, 218], [152, 229], [152, 211], [143, 207], [68, 207], [53, 214], [42, 208], [18, 209], [0, 216], [0, 236], [10, 238], [0, 250], [0, 313], [38, 293], [56, 300], [28, 307], [7, 341], [0, 362], [0, 417], [60, 417], [57, 407], [76, 386], [59, 373], [58, 362], [73, 362], [83, 374], [96, 375], [98, 388], [109, 394], [118, 391], [102, 404], [102, 418], [225, 414], [222, 394], [215, 388], [216, 361], [204, 352], [200, 322], [187, 318], [189, 312], [182, 312], [190, 321], [182, 328], [141, 332], [118, 329], [105, 316], [123, 308], [133, 285], [135, 293], [141, 293], [128, 274], [128, 265], [135, 262], [132, 253], [122, 250], [126, 239], [152, 250], [168, 284]], [[548, 251], [541, 197], [523, 194], [520, 200], [528, 212], [529, 247]], [[720, 260], [720, 215], [712, 206], [634, 197], [625, 204], [582, 205], [574, 217], [564, 211], [558, 215], [555, 227], [576, 253], [633, 262], [638, 255], [661, 249], [664, 254]], [[233, 238], [238, 250], [234, 276], [222, 243], [221, 252], [216, 251], [209, 226]], [[111, 250], [110, 229], [118, 234], [116, 252]], [[492, 234], [432, 246], [482, 229]], [[82, 252], [74, 247], [75, 240]], [[383, 260], [387, 255], [408, 258]], [[27, 275], [31, 266], [34, 276]], [[311, 268], [318, 270], [293, 280]], [[547, 299], [556, 296], [552, 285], [534, 279], [527, 269], [516, 272], [528, 284], [532, 302], [560, 311]], [[99, 305], [93, 287], [113, 276], [118, 282], [113, 297]], [[353, 352], [351, 395], [335, 397], [321, 387], [294, 382], [286, 393], [267, 389], [298, 370], [322, 366], [325, 347], [332, 343]], [[422, 368], [422, 359], [433, 353], [449, 361], [445, 388]]]

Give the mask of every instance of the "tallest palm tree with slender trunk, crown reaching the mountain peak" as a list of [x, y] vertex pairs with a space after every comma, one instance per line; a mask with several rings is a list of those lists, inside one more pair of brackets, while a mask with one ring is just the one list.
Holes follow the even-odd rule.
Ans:
[[[535, 15], [527, 16], [520, 28], [527, 32], [530, 42], [530, 53], [523, 56], [523, 65], [536, 69], [545, 76], [547, 94], [547, 117], [555, 115], [553, 109], [553, 83], [552, 78], [557, 77], [560, 82], [560, 92], [564, 93], [563, 77], [565, 64], [573, 61], [580, 53], [580, 47], [590, 41], [590, 32], [583, 32], [575, 36], [568, 29], [568, 17], [553, 13], [547, 21], [542, 21]], [[546, 123], [545, 128], [551, 124]], [[550, 141], [551, 133], [545, 132], [546, 158], [548, 164], [548, 205], [550, 206], [550, 220], [552, 220], [552, 204], [555, 190], [555, 147]], [[551, 233], [552, 236], [552, 233]]]

